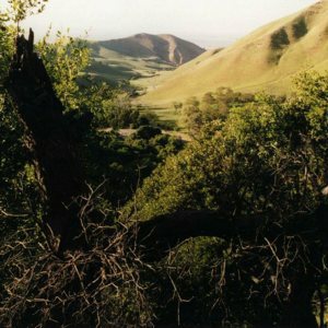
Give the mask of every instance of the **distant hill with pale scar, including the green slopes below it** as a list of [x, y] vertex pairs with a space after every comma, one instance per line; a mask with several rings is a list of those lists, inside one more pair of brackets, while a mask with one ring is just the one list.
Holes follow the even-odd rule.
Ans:
[[204, 51], [173, 35], [136, 34], [127, 38], [89, 43], [95, 79], [117, 82], [150, 78], [159, 71], [174, 70]]

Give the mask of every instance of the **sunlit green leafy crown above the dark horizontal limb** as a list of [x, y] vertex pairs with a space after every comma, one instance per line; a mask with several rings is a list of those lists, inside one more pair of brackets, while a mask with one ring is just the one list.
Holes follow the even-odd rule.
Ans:
[[[281, 103], [259, 97], [232, 108], [224, 121], [208, 124], [197, 142], [168, 159], [148, 179], [141, 192], [144, 199], [156, 195], [156, 201], [151, 199], [156, 212], [176, 209], [179, 203], [233, 211], [238, 207], [242, 212], [243, 204], [250, 202], [251, 211], [276, 211], [283, 203], [291, 211], [296, 211], [294, 207], [302, 211], [300, 206], [315, 208], [326, 174], [325, 79], [303, 77], [294, 98]], [[148, 209], [150, 203], [144, 204]]]

